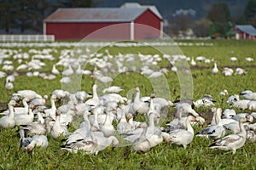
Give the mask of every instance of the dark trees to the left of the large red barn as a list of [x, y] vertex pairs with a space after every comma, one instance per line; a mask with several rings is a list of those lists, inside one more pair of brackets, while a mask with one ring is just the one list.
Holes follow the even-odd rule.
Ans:
[[43, 33], [43, 20], [57, 8], [96, 5], [93, 0], [0, 0], [0, 29], [7, 34], [23, 34], [26, 31]]

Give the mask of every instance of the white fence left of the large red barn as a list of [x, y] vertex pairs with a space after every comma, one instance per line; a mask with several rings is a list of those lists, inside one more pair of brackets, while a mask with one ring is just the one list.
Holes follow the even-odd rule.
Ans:
[[54, 35], [0, 35], [0, 42], [54, 42]]

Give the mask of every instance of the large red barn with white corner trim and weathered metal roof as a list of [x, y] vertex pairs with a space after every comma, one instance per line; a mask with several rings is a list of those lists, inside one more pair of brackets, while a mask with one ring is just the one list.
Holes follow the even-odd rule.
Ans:
[[55, 40], [138, 40], [162, 36], [154, 6], [125, 3], [121, 8], [58, 8], [44, 20], [44, 34]]

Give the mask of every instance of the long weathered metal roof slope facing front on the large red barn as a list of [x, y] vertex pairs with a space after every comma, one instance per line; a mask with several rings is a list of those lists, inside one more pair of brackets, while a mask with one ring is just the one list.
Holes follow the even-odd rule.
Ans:
[[58, 8], [44, 22], [130, 22], [148, 8]]

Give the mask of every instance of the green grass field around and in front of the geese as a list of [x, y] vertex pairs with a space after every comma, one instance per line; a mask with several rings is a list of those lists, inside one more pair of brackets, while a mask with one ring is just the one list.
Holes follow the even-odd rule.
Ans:
[[[226, 103], [229, 95], [239, 94], [245, 89], [256, 91], [256, 52], [254, 41], [235, 41], [235, 40], [206, 40], [206, 41], [181, 41], [183, 44], [179, 48], [184, 55], [189, 58], [196, 58], [197, 56], [205, 56], [207, 59], [214, 59], [218, 62], [219, 72], [217, 75], [212, 75], [213, 62], [206, 64], [204, 62], [197, 62], [196, 66], [190, 66], [193, 78], [193, 99], [201, 99], [204, 94], [211, 94], [215, 99], [216, 106], [223, 109], [230, 108]], [[198, 42], [204, 42], [211, 45], [196, 45]], [[191, 46], [188, 44], [192, 44]], [[52, 61], [44, 60], [46, 66], [39, 71], [49, 72], [52, 65], [58, 62], [61, 56], [61, 50], [73, 47], [3, 47], [0, 49], [12, 49], [28, 52], [32, 48], [43, 50], [44, 48], [52, 49], [50, 54], [55, 56]], [[162, 48], [168, 48], [162, 47]], [[104, 49], [102, 49], [104, 51]], [[156, 53], [154, 49], [148, 50], [143, 48], [109, 48], [111, 54], [118, 54], [119, 52], [131, 53], [147, 51], [148, 54]], [[231, 62], [230, 57], [235, 56], [237, 61]], [[251, 57], [253, 62], [248, 62], [245, 58]], [[13, 60], [15, 67], [18, 65], [17, 59]], [[28, 59], [29, 60], [29, 59]], [[159, 67], [167, 67], [167, 60], [163, 60]], [[2, 69], [0, 65], [0, 71]], [[89, 69], [93, 69], [87, 65]], [[225, 77], [221, 71], [224, 67], [231, 67], [236, 70], [241, 67], [247, 71], [246, 75]], [[59, 69], [63, 69], [59, 67]], [[9, 72], [11, 73], [11, 72]], [[61, 89], [61, 75], [56, 77], [55, 80], [44, 80], [42, 77], [26, 77], [26, 74], [20, 74], [15, 77], [15, 88], [13, 90], [6, 90], [4, 88], [5, 79], [0, 79], [0, 102], [3, 105], [10, 99], [10, 95], [18, 90], [32, 89], [38, 94], [51, 94], [55, 89]], [[170, 88], [171, 100], [174, 101], [180, 96], [180, 86], [177, 74], [174, 71], [166, 73], [166, 80]], [[85, 92], [91, 93], [91, 87], [95, 82], [90, 76], [83, 76], [81, 82], [81, 89]], [[124, 88], [121, 93], [127, 96], [132, 88], [140, 87], [142, 96], [148, 96], [154, 93], [152, 84], [148, 82], [145, 77], [137, 73], [131, 74], [118, 74], [114, 77], [112, 85]], [[221, 96], [219, 93], [227, 89], [229, 94]], [[2, 105], [2, 106], [3, 106]], [[49, 104], [48, 104], [49, 105]], [[1, 108], [0, 108], [1, 109]], [[3, 109], [3, 108], [2, 108]], [[207, 114], [210, 108], [196, 109], [202, 116], [211, 117]], [[174, 109], [170, 108], [170, 112]], [[237, 113], [248, 112], [236, 109]], [[169, 116], [166, 121], [172, 120]], [[209, 120], [207, 120], [209, 121]], [[241, 149], [236, 151], [233, 155], [231, 151], [212, 150], [208, 148], [211, 141], [195, 137], [193, 142], [188, 145], [187, 149], [179, 147], [175, 144], [159, 144], [148, 151], [146, 154], [137, 154], [131, 150], [131, 146], [117, 147], [114, 150], [103, 150], [97, 156], [86, 155], [82, 151], [78, 154], [70, 154], [65, 150], [60, 150], [61, 140], [51, 139], [49, 136], [49, 147], [46, 150], [34, 150], [32, 154], [26, 154], [24, 150], [18, 150], [18, 141], [20, 139], [17, 130], [19, 127], [13, 129], [0, 129], [0, 168], [2, 169], [255, 169], [256, 167], [256, 145], [246, 143]], [[194, 127], [195, 133], [201, 127], [196, 125]], [[73, 125], [69, 129], [71, 132], [74, 130]]]

